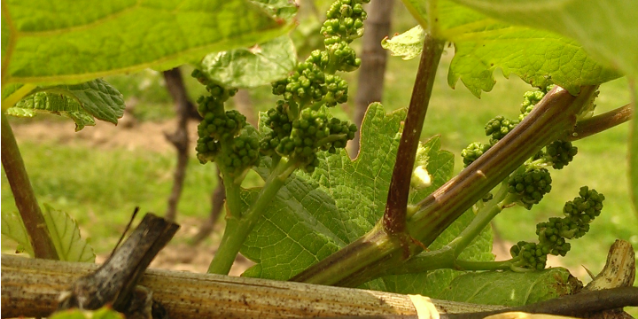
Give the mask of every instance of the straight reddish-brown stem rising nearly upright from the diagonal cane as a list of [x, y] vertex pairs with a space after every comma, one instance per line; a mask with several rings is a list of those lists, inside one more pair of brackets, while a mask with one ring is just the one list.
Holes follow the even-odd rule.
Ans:
[[423, 130], [425, 113], [427, 113], [430, 97], [432, 97], [432, 86], [443, 52], [443, 44], [443, 41], [432, 37], [432, 35], [425, 35], [423, 53], [416, 71], [416, 81], [412, 89], [408, 116], [401, 134], [390, 191], [388, 191], [385, 204], [383, 226], [384, 230], [391, 235], [401, 234], [406, 230], [410, 178], [414, 168], [416, 149]]

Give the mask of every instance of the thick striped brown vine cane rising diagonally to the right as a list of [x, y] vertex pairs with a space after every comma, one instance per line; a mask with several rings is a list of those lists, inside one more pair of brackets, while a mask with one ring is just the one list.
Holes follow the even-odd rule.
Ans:
[[[583, 87], [578, 97], [561, 88], [551, 90], [501, 142], [418, 204], [408, 220], [409, 235], [424, 245], [432, 244], [447, 226], [526, 159], [546, 144], [568, 136], [595, 89]], [[377, 225], [291, 280], [355, 287], [382, 276], [388, 268], [399, 267], [405, 261], [405, 248]], [[419, 245], [408, 246], [411, 256], [421, 251]]]

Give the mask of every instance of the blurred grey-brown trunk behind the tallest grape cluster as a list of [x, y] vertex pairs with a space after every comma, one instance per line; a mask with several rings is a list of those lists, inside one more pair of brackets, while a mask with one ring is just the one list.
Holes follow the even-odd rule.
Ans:
[[[383, 97], [387, 51], [381, 47], [390, 33], [394, 0], [377, 0], [368, 4], [368, 19], [362, 40], [362, 66], [359, 68], [359, 87], [354, 97], [354, 122], [361, 128], [363, 115], [372, 102]], [[350, 144], [350, 153], [359, 152], [359, 132]]]

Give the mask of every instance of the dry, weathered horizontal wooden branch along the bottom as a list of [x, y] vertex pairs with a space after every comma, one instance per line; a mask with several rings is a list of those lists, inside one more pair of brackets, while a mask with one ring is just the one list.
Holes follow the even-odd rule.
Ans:
[[[0, 255], [0, 318], [47, 316], [58, 295], [98, 266]], [[141, 285], [152, 290], [172, 319], [299, 318], [343, 315], [414, 315], [408, 295], [315, 284], [148, 269]], [[500, 309], [432, 300], [441, 313]]]

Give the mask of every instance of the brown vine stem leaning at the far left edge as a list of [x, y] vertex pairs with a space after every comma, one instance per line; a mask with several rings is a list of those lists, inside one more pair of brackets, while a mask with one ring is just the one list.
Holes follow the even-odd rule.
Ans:
[[38, 206], [24, 161], [19, 153], [18, 144], [4, 112], [0, 112], [0, 159], [11, 185], [20, 217], [27, 229], [35, 258], [57, 260], [58, 252], [55, 250], [51, 234], [44, 222], [44, 216]]

